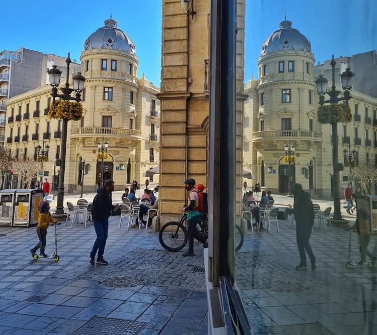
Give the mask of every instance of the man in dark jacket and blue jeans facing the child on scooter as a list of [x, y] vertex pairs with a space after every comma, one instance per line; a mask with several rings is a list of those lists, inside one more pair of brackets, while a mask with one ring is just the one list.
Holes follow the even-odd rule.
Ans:
[[108, 262], [104, 259], [104, 251], [106, 240], [108, 238], [109, 230], [109, 216], [114, 209], [111, 193], [114, 191], [114, 182], [110, 179], [106, 180], [104, 187], [97, 191], [97, 195], [93, 200], [91, 209], [91, 217], [93, 219], [93, 226], [96, 229], [97, 239], [90, 252], [89, 264], [95, 264], [95, 257], [97, 255], [97, 263], [107, 265]]

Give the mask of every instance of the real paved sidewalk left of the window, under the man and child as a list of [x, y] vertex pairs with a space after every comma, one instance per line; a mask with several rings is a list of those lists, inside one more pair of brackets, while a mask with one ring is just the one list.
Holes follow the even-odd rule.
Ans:
[[[111, 218], [109, 265], [94, 267], [88, 265], [96, 236], [92, 226], [57, 227], [58, 262], [32, 259], [35, 228], [2, 228], [0, 333], [94, 334], [111, 322], [124, 331], [122, 320], [134, 320], [134, 329], [143, 327], [141, 334], [206, 334], [204, 273], [193, 271], [204, 267], [202, 247], [196, 247], [195, 257], [184, 258], [163, 250], [150, 230], [127, 231], [126, 222], [118, 230], [119, 217]], [[49, 228], [46, 253], [52, 251]], [[86, 324], [93, 326], [89, 332], [76, 330], [93, 316], [90, 322], [97, 323]]]

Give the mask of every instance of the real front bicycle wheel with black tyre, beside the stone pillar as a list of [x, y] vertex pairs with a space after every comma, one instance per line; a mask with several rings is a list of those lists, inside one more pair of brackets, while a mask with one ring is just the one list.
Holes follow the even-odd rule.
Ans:
[[179, 251], [187, 243], [187, 230], [179, 222], [170, 221], [161, 227], [158, 239], [166, 250]]

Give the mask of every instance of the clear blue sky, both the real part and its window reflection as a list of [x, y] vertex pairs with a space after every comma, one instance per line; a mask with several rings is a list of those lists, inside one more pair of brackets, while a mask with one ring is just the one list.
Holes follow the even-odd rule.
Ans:
[[[200, 1], [200, 0], [197, 0]], [[377, 49], [377, 0], [246, 0], [245, 81], [257, 74], [260, 47], [278, 23], [293, 22], [312, 44], [316, 63]], [[20, 47], [79, 61], [86, 38], [113, 14], [136, 47], [138, 76], [160, 86], [161, 0], [82, 0], [67, 7], [39, 0], [3, 2], [1, 50]], [[59, 7], [56, 7], [59, 5]], [[6, 14], [7, 13], [7, 14]]]

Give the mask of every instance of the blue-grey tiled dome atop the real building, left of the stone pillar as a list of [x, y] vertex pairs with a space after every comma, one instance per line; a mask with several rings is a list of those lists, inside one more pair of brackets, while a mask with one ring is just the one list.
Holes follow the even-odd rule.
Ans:
[[118, 22], [112, 18], [105, 20], [105, 27], [97, 29], [86, 39], [84, 50], [110, 47], [135, 55], [135, 45], [117, 25]]

